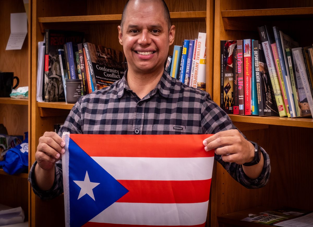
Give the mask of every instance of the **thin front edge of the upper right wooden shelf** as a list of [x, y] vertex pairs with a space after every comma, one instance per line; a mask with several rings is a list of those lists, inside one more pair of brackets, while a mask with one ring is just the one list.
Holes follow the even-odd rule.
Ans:
[[222, 17], [259, 17], [286, 15], [313, 15], [313, 7], [280, 8], [280, 9], [249, 9], [221, 11]]

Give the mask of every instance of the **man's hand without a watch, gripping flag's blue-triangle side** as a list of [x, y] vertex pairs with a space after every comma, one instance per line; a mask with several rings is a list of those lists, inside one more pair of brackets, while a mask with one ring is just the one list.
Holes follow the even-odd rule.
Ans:
[[39, 144], [35, 153], [37, 164], [48, 171], [54, 169], [54, 163], [59, 161], [61, 154], [65, 152], [65, 142], [55, 132], [45, 132], [39, 138]]

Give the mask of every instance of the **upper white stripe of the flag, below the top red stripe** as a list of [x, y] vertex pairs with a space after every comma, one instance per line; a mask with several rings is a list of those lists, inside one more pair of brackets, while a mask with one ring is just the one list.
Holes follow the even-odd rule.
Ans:
[[[190, 181], [212, 178], [214, 157], [92, 157], [116, 180]], [[144, 170], [144, 171], [142, 171]]]

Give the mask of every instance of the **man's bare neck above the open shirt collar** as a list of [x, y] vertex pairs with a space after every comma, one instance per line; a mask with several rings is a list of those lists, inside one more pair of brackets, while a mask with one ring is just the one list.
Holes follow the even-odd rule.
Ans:
[[142, 99], [151, 90], [153, 90], [156, 85], [161, 80], [164, 70], [152, 73], [136, 73], [132, 70], [127, 71], [127, 83], [129, 88], [137, 94], [137, 96]]

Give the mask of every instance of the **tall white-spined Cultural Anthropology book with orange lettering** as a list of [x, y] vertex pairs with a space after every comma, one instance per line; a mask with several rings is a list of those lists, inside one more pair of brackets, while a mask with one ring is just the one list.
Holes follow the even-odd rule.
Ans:
[[197, 43], [197, 55], [195, 64], [195, 75], [197, 72], [197, 88], [205, 91], [206, 80], [206, 39], [207, 33], [199, 32]]

